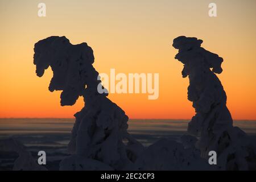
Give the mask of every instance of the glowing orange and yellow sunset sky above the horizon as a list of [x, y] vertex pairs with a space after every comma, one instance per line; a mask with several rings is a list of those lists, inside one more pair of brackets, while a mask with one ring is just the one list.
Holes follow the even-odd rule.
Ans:
[[256, 2], [214, 1], [217, 17], [208, 16], [212, 1], [43, 1], [47, 16], [38, 17], [41, 1], [0, 0], [0, 117], [71, 118], [79, 111], [60, 106], [60, 92], [49, 92], [48, 69], [36, 77], [34, 43], [51, 35], [94, 50], [98, 72], [159, 73], [159, 98], [147, 94], [110, 94], [130, 118], [188, 119], [188, 78], [174, 59], [171, 44], [180, 35], [203, 39], [202, 46], [224, 58], [219, 75], [234, 119], [256, 119]]

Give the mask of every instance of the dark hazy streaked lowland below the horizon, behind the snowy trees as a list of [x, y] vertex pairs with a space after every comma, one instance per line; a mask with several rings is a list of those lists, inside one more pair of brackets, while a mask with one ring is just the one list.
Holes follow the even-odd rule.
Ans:
[[[23, 143], [34, 158], [38, 151], [47, 154], [47, 168], [59, 169], [59, 162], [67, 156], [67, 145], [75, 119], [0, 119], [0, 139], [14, 138]], [[187, 130], [188, 120], [130, 119], [129, 133], [144, 146], [160, 138], [179, 142]], [[234, 121], [247, 134], [256, 138], [256, 121]], [[0, 151], [0, 169], [12, 169], [15, 152]]]

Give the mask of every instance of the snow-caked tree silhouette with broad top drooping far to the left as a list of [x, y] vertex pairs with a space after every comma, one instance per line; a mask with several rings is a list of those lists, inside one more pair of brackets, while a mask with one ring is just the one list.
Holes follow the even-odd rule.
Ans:
[[43, 76], [44, 70], [51, 67], [49, 90], [62, 90], [61, 106], [73, 105], [79, 96], [84, 97], [85, 106], [75, 114], [68, 145], [72, 155], [61, 161], [60, 169], [111, 170], [132, 166], [143, 146], [127, 133], [125, 112], [107, 94], [98, 93], [100, 81], [92, 65], [92, 48], [86, 43], [72, 45], [65, 36], [51, 36], [36, 43], [34, 52], [36, 75]]

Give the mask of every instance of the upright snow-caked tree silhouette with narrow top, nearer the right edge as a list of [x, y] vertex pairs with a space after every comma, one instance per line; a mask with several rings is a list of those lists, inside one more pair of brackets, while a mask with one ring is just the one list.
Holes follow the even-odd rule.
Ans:
[[188, 133], [199, 138], [196, 147], [201, 157], [217, 152], [220, 169], [256, 169], [255, 141], [238, 127], [226, 107], [226, 93], [215, 73], [222, 72], [223, 59], [201, 47], [203, 40], [179, 36], [174, 46], [175, 59], [184, 64], [182, 76], [189, 78], [188, 100], [196, 115], [188, 125]]

